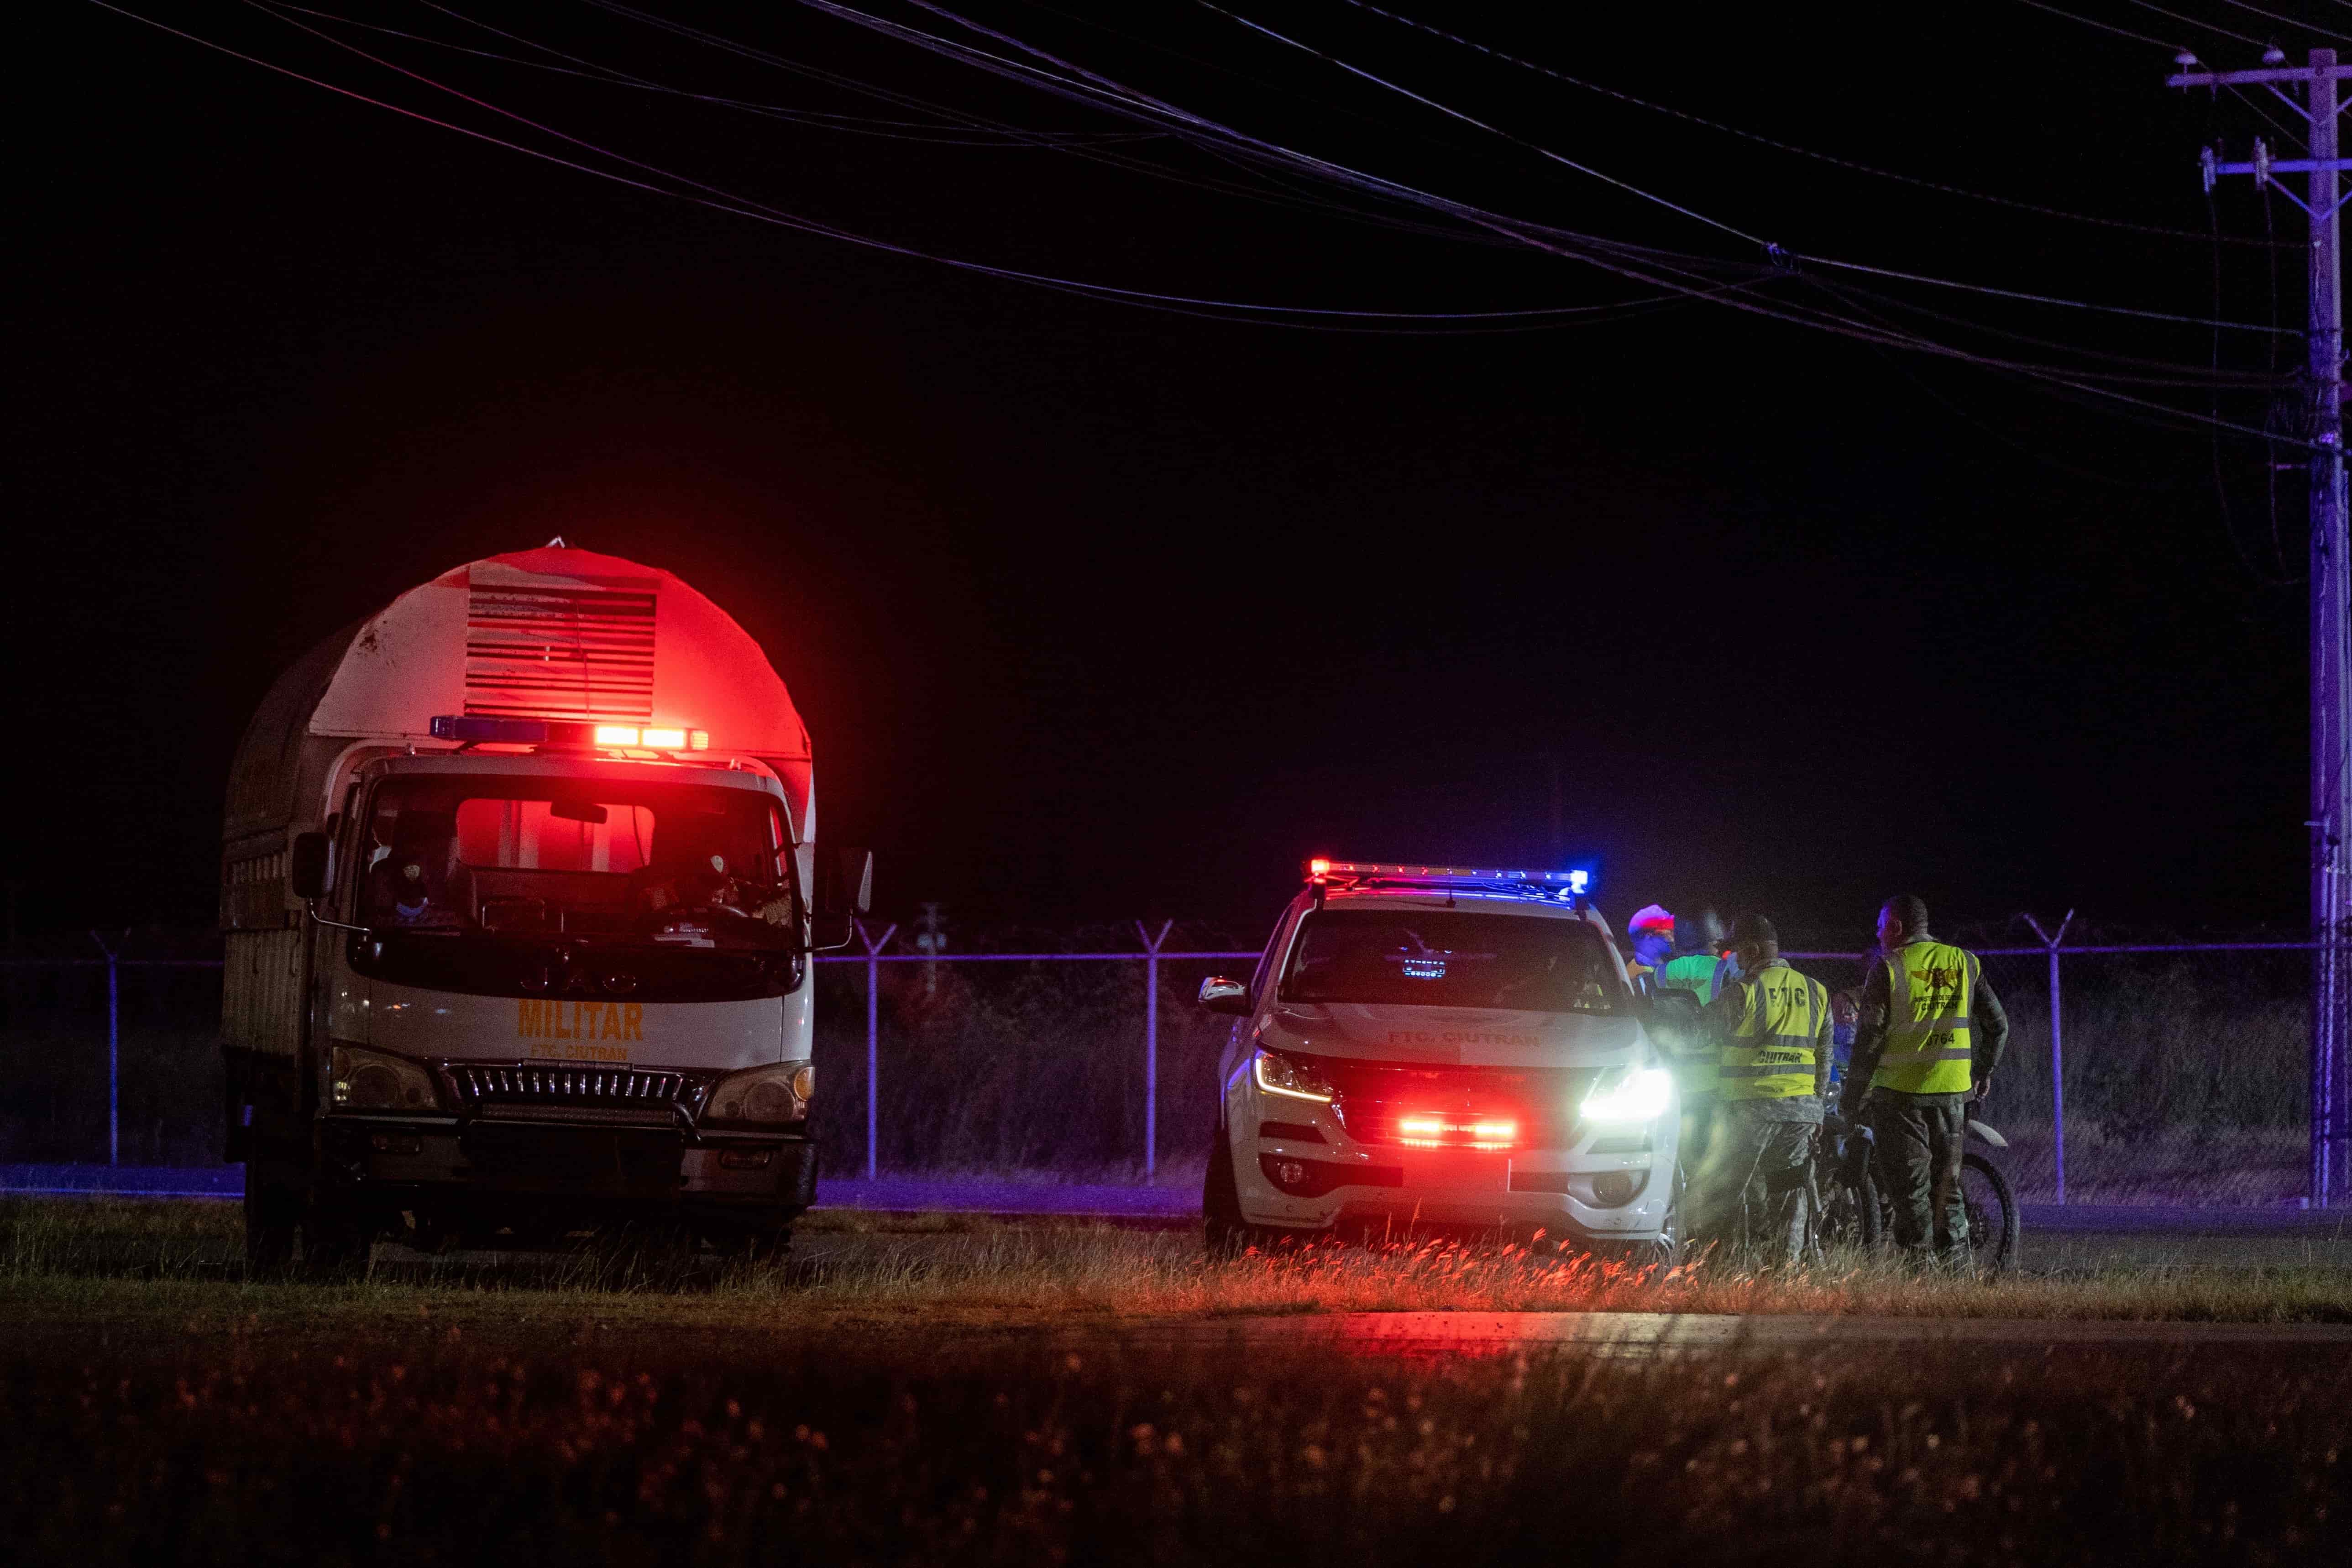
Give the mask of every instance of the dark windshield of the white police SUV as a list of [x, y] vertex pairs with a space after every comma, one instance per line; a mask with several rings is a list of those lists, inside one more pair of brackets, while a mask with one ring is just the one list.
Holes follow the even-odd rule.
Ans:
[[1282, 971], [1282, 1001], [1618, 1013], [1625, 983], [1599, 931], [1545, 914], [1317, 910]]

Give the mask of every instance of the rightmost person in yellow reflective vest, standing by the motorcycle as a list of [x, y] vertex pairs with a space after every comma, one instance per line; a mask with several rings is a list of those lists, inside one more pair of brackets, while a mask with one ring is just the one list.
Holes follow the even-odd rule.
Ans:
[[1983, 1098], [2006, 1046], [2009, 1016], [1978, 957], [1929, 936], [1926, 903], [1915, 893], [1889, 898], [1839, 1110], [1851, 1121], [1867, 1107], [1896, 1246], [1912, 1262], [1969, 1262], [1962, 1143], [1969, 1103]]

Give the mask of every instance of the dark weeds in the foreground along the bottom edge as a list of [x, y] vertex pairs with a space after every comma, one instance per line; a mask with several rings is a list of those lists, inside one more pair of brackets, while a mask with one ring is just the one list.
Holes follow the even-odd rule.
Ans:
[[[2352, 1366], [1091, 1338], [0, 1349], [16, 1561], [2340, 1561]], [[2333, 1544], [2331, 1544], [2333, 1542]]]

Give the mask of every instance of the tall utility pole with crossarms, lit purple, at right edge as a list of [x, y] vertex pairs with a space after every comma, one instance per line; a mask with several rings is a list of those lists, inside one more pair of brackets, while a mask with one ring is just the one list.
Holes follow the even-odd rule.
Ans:
[[[2310, 416], [2305, 440], [2312, 444], [2312, 1168], [2310, 1201], [2314, 1208], [2352, 1197], [2352, 1171], [2345, 1168], [2352, 1114], [2347, 1114], [2345, 1044], [2352, 1039], [2352, 973], [2345, 943], [2352, 940], [2352, 867], [2345, 865], [2345, 835], [2352, 832], [2352, 571], [2345, 541], [2345, 451], [2343, 451], [2343, 249], [2338, 212], [2343, 197], [2338, 174], [2345, 160], [2336, 155], [2336, 82], [2352, 68], [2336, 63], [2336, 49], [2312, 49], [2307, 66], [2288, 66], [2270, 49], [2260, 71], [2194, 71], [2197, 56], [2180, 54], [2180, 73], [2166, 87], [2260, 87], [2310, 125], [2305, 158], [2272, 158], [2263, 141], [2253, 143], [2253, 162], [2220, 162], [2213, 148], [2204, 153], [2206, 190], [2223, 174], [2251, 174], [2256, 188], [2272, 188], [2312, 221], [2312, 313]], [[2303, 89], [2298, 101], [2296, 87]], [[2274, 176], [2303, 174], [2298, 197]]]

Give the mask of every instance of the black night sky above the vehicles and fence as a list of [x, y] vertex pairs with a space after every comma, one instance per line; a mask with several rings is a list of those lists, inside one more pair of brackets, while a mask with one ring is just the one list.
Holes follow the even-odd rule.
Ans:
[[[494, 122], [256, 9], [132, 9]], [[1028, 127], [1117, 129], [814, 12], [661, 9]], [[1195, 5], [1120, 7], [1117, 35], [985, 9], [1324, 155], [1750, 256]], [[1771, 7], [1703, 28], [1630, 7], [1616, 31], [1439, 9], [1740, 127], [2143, 223], [2204, 230], [2194, 148], [2263, 129], [2166, 92], [2161, 49], [2023, 5], [1969, 7], [1966, 38], [1945, 12], [1903, 33]], [[2077, 9], [2138, 26], [2112, 0]], [[423, 5], [339, 14], [513, 47]], [[590, 5], [473, 14], [703, 92], [903, 118]], [[1792, 249], [2187, 315], [2213, 299], [2199, 240], [1759, 150], [1334, 0], [1265, 19]], [[1618, 917], [1715, 898], [1856, 940], [1912, 886], [1971, 922], [2303, 919], [2305, 611], [2244, 564], [2277, 564], [2256, 444], [2220, 451], [2225, 520], [2197, 430], [1700, 303], [1454, 336], [1148, 313], [527, 162], [92, 5], [45, 7], [33, 38], [9, 292], [9, 510], [31, 559], [7, 621], [7, 877], [28, 929], [207, 922], [228, 752], [285, 661], [550, 534], [680, 571], [764, 642], [816, 738], [826, 837], [880, 849], [889, 914], [938, 898], [967, 929], [1247, 929], [1310, 851], [1541, 860], [1557, 757], [1569, 851], [1602, 863]], [[1054, 150], [367, 47], [713, 183], [1007, 266], [1409, 310], [1628, 292], [1573, 261]], [[2213, 35], [2199, 49], [2253, 63]], [[2220, 212], [2263, 233], [2244, 183]], [[2265, 256], [2225, 252], [2230, 313], [2272, 308]], [[2296, 322], [2300, 252], [2281, 261]], [[2211, 353], [2199, 329], [1907, 299], [2187, 367]], [[2225, 355], [2263, 367], [2244, 341]], [[2260, 423], [2263, 397], [2223, 411]]]

